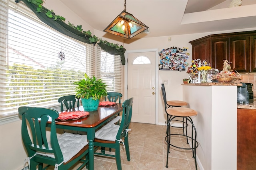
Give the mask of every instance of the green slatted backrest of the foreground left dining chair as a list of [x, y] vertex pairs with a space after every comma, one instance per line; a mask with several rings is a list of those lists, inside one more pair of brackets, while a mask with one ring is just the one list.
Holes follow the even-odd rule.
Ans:
[[[58, 111], [43, 107], [26, 107], [18, 109], [22, 115], [22, 140], [28, 151], [28, 156], [33, 156], [36, 152], [54, 153], [56, 162], [63, 161], [63, 155], [58, 144], [55, 119], [58, 118]], [[47, 138], [46, 124], [51, 119], [50, 139]], [[28, 121], [28, 124], [26, 123]], [[31, 129], [31, 138], [28, 127]], [[48, 145], [51, 144], [51, 146]]]

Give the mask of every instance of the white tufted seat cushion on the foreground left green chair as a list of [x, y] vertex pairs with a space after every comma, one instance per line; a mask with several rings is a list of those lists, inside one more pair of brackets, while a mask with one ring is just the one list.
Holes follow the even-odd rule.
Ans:
[[[79, 135], [73, 133], [63, 133], [58, 137], [58, 143], [60, 150], [63, 155], [64, 162], [68, 162], [73, 156], [75, 156], [81, 149], [88, 144], [87, 135]], [[51, 147], [50, 143], [48, 143]], [[37, 154], [55, 158], [53, 153], [42, 153]]]

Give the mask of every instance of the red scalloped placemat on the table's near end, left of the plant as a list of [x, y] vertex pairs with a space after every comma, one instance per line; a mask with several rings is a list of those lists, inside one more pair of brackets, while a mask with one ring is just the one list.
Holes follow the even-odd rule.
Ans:
[[66, 121], [68, 119], [77, 120], [81, 117], [85, 118], [87, 115], [89, 115], [88, 111], [68, 111], [60, 113], [57, 119], [60, 119], [61, 121]]

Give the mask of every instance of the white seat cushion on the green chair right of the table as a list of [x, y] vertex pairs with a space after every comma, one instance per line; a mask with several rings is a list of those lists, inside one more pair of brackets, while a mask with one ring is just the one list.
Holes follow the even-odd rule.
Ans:
[[95, 133], [95, 138], [107, 140], [107, 141], [116, 141], [116, 135], [119, 130], [119, 125], [108, 123], [100, 128]]

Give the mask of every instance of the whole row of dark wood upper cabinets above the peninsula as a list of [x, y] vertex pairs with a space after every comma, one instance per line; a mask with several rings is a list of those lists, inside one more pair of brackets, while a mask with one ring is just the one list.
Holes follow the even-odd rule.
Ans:
[[192, 59], [206, 59], [212, 68], [222, 70], [228, 60], [232, 70], [256, 72], [256, 31], [213, 34], [189, 43]]

